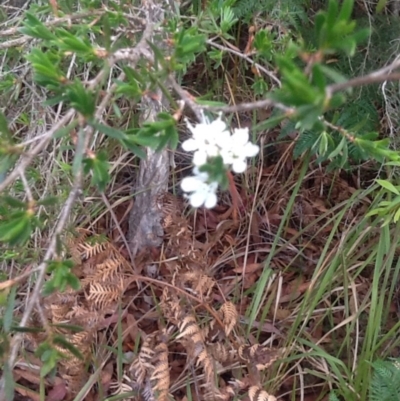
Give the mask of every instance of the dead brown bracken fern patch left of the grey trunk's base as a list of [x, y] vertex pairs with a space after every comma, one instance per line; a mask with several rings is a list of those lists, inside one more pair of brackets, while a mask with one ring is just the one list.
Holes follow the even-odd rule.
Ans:
[[[97, 330], [105, 315], [115, 311], [125, 290], [124, 278], [129, 264], [108, 239], [83, 229], [69, 238], [68, 252], [75, 262], [74, 272], [81, 288], [52, 294], [44, 298], [43, 305], [54, 333], [62, 335], [83, 357], [78, 358], [60, 344], [54, 346], [64, 356], [59, 372], [73, 394], [87, 379], [86, 366]], [[65, 325], [80, 326], [83, 330], [71, 334]], [[38, 343], [41, 340], [43, 338], [36, 338]]]

